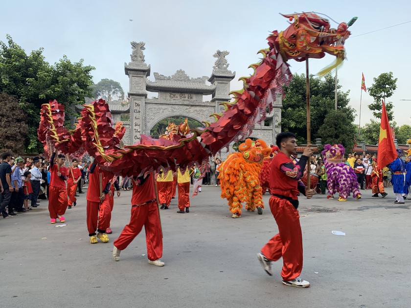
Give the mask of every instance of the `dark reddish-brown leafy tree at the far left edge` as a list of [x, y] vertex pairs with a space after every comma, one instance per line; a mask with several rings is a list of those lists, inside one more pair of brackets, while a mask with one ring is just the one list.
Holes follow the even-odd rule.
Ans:
[[11, 95], [0, 93], [0, 153], [23, 154], [28, 129], [25, 119], [19, 102]]

